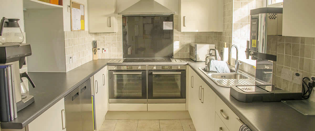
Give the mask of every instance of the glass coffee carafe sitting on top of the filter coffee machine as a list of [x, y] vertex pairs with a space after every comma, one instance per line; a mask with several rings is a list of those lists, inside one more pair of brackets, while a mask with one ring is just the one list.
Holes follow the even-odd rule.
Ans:
[[0, 22], [0, 43], [20, 44], [24, 35], [18, 23], [20, 19], [7, 19], [3, 17]]

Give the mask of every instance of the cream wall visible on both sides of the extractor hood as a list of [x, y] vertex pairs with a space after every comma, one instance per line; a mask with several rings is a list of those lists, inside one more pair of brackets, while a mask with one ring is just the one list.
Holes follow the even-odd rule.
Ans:
[[[126, 8], [132, 6], [133, 4], [137, 3], [140, 0], [117, 0], [117, 12], [122, 12]], [[169, 8], [172, 11], [176, 11], [178, 14], [178, 0], [155, 0], [156, 2], [160, 3], [161, 5]]]

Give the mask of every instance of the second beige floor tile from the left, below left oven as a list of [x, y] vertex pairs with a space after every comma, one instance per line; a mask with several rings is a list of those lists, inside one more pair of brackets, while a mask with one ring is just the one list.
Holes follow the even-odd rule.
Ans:
[[117, 120], [114, 131], [136, 131], [138, 120]]

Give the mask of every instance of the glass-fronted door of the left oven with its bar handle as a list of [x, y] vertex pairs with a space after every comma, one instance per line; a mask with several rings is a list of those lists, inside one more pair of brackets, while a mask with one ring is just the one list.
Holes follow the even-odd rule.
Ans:
[[146, 71], [109, 71], [109, 103], [147, 103]]

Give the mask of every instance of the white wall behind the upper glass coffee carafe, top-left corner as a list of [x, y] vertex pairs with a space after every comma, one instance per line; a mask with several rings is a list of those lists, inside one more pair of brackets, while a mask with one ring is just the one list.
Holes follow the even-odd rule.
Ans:
[[20, 19], [19, 25], [24, 32], [23, 0], [0, 0], [0, 19]]

